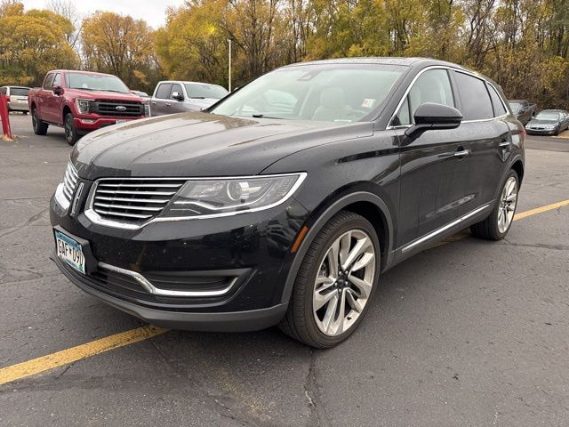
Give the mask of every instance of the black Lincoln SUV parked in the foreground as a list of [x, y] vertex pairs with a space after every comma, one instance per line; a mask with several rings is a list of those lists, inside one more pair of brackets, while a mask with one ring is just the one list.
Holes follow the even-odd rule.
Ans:
[[452, 63], [279, 68], [207, 111], [79, 141], [52, 197], [54, 259], [156, 325], [278, 324], [331, 347], [382, 271], [466, 227], [506, 236], [524, 141], [501, 88]]

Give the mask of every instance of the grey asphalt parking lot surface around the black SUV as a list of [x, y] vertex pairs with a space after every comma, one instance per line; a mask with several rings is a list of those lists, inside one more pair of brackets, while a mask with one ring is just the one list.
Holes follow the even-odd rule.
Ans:
[[463, 232], [397, 265], [349, 341], [311, 350], [276, 328], [139, 329], [69, 283], [49, 259], [48, 209], [69, 146], [11, 119], [0, 425], [567, 425], [569, 139], [528, 137], [506, 240]]

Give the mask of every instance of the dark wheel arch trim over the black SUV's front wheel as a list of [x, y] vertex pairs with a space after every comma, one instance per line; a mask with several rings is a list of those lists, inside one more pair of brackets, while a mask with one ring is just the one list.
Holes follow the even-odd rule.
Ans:
[[389, 211], [388, 205], [378, 195], [365, 190], [342, 195], [334, 199], [333, 202], [324, 203], [323, 206], [319, 206], [315, 210], [317, 213], [316, 219], [310, 223], [309, 230], [302, 239], [301, 246], [299, 246], [296, 254], [294, 254], [293, 262], [286, 274], [281, 302], [289, 302], [293, 292], [294, 281], [296, 280], [304, 255], [309, 250], [310, 244], [314, 238], [316, 238], [322, 227], [324, 227], [325, 223], [342, 210], [360, 214], [372, 223], [380, 239], [381, 270], [386, 270], [392, 263], [394, 219]]

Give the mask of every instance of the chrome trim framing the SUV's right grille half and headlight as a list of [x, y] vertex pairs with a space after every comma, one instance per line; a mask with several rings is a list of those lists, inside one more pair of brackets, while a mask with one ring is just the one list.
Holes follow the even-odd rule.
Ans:
[[[140, 180], [145, 180], [145, 181], [215, 181], [215, 180], [248, 180], [248, 179], [253, 179], [253, 178], [275, 178], [275, 177], [281, 177], [281, 176], [298, 176], [298, 179], [294, 183], [293, 187], [284, 195], [284, 197], [282, 197], [277, 202], [275, 202], [271, 205], [260, 206], [260, 207], [254, 208], [254, 209], [250, 209], [248, 211], [225, 212], [225, 213], [221, 213], [221, 214], [209, 214], [209, 215], [202, 215], [202, 216], [197, 216], [197, 217], [191, 217], [191, 216], [156, 217], [156, 218], [152, 218], [146, 222], [142, 222], [141, 224], [131, 224], [129, 222], [113, 221], [113, 220], [107, 220], [105, 218], [101, 218], [100, 214], [97, 214], [95, 212], [95, 210], [93, 209], [95, 193], [97, 191], [97, 187], [99, 186], [100, 181], [110, 181], [110, 180], [116, 180], [116, 181], [127, 181], [127, 180], [137, 180], [137, 181], [140, 181]], [[112, 227], [112, 228], [116, 228], [116, 229], [123, 229], [123, 230], [140, 230], [140, 229], [146, 227], [148, 224], [151, 224], [154, 222], [196, 221], [196, 220], [207, 220], [207, 219], [212, 219], [212, 218], [222, 218], [225, 216], [252, 214], [254, 212], [264, 211], [264, 210], [276, 207], [278, 205], [284, 204], [284, 202], [286, 202], [288, 199], [290, 199], [293, 196], [293, 194], [296, 192], [296, 190], [301, 187], [302, 182], [304, 182], [304, 180], [306, 179], [307, 176], [308, 176], [308, 173], [299, 172], [299, 173], [273, 173], [273, 174], [269, 174], [269, 175], [248, 175], [248, 176], [217, 176], [217, 177], [209, 177], [209, 176], [208, 177], [201, 177], [200, 176], [200, 177], [194, 177], [194, 178], [188, 178], [188, 177], [179, 177], [179, 178], [172, 178], [172, 177], [168, 177], [168, 178], [157, 178], [157, 177], [153, 177], [153, 178], [145, 178], [145, 177], [99, 178], [98, 180], [93, 182], [91, 190], [89, 191], [89, 197], [87, 198], [87, 203], [86, 203], [86, 208], [84, 210], [84, 214], [89, 220], [91, 220], [91, 222], [93, 222], [95, 224], [103, 225], [105, 227]], [[176, 191], [176, 193], [178, 193], [178, 191]], [[175, 197], [175, 195], [173, 195], [172, 198], [173, 197]], [[171, 199], [171, 201], [172, 201], [172, 199]]]

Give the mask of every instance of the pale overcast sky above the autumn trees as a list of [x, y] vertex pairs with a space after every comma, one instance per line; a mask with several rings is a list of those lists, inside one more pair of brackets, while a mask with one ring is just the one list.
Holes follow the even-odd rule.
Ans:
[[[26, 10], [44, 9], [45, 0], [20, 0]], [[168, 6], [180, 6], [184, 0], [75, 0], [77, 11], [86, 16], [96, 10], [131, 15], [137, 20], [146, 20], [151, 27], [164, 25]]]

